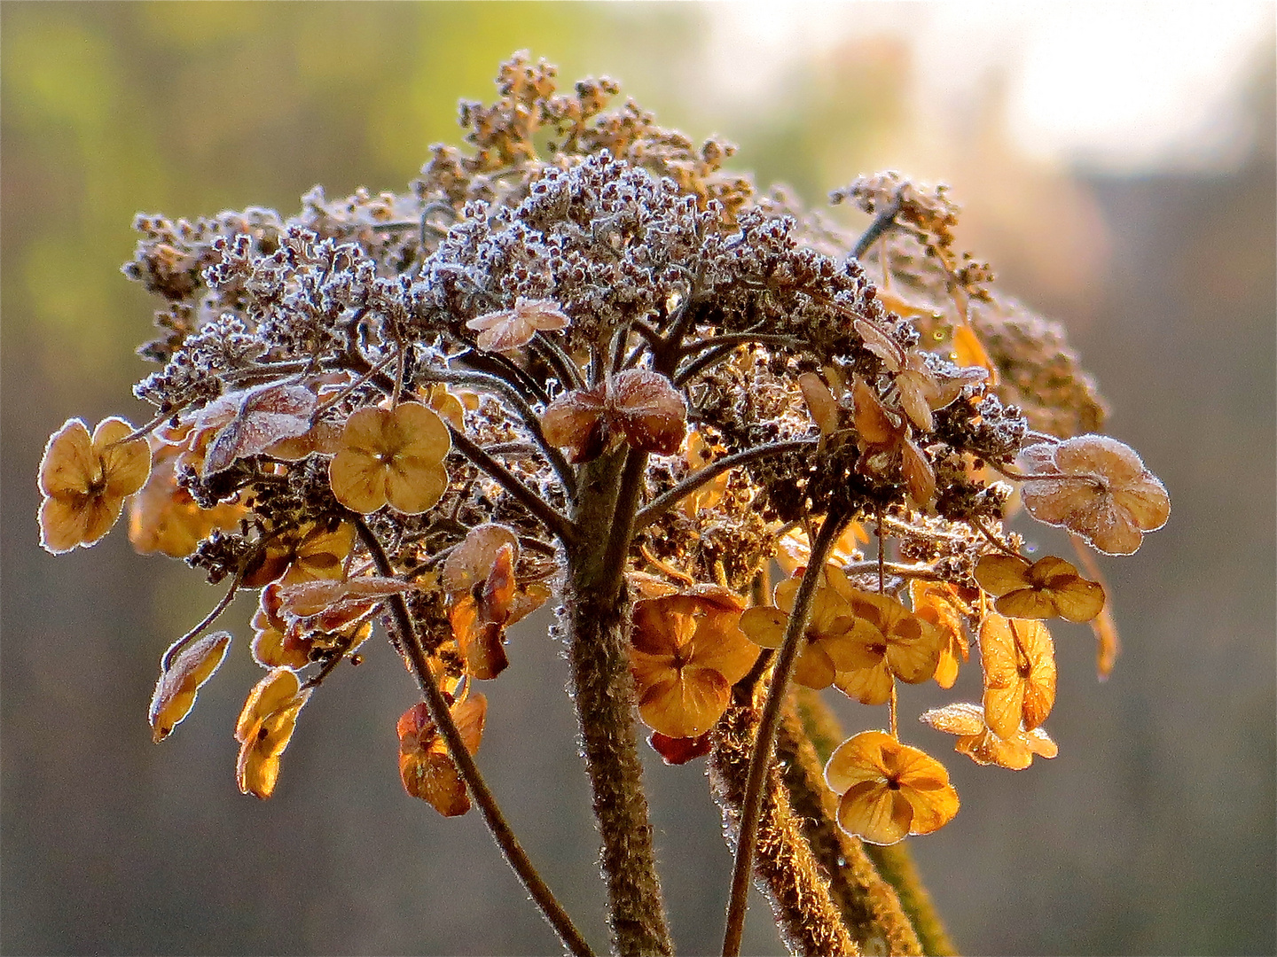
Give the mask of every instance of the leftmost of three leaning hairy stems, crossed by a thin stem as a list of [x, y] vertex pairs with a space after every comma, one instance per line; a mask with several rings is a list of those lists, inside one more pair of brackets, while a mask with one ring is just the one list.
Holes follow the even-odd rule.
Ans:
[[[738, 842], [750, 755], [760, 717], [755, 707], [729, 708], [714, 730], [714, 750], [710, 752], [710, 786], [723, 809], [727, 829]], [[861, 948], [843, 925], [794, 810], [780, 775], [775, 767], [770, 768], [756, 827], [753, 875], [771, 902], [776, 926], [790, 952], [808, 957], [858, 954]]]

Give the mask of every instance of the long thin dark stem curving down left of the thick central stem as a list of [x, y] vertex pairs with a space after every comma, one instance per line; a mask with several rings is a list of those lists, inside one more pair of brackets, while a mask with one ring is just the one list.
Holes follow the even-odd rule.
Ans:
[[[391, 565], [386, 550], [377, 540], [373, 530], [368, 527], [361, 517], [356, 516], [351, 521], [359, 532], [360, 541], [373, 556], [377, 570], [387, 578], [396, 577], [395, 567]], [[502, 814], [497, 799], [488, 789], [488, 782], [484, 781], [483, 775], [479, 772], [479, 766], [475, 764], [474, 757], [461, 739], [461, 731], [457, 730], [457, 725], [452, 720], [452, 712], [448, 709], [443, 692], [439, 690], [430, 674], [430, 665], [427, 661], [425, 649], [421, 647], [421, 639], [416, 633], [412, 612], [409, 611], [407, 602], [402, 595], [392, 595], [389, 606], [395, 625], [398, 628], [401, 641], [404, 642], [404, 651], [407, 653], [409, 664], [411, 665], [412, 678], [416, 679], [418, 686], [421, 689], [425, 699], [425, 706], [430, 709], [430, 720], [434, 721], [435, 727], [439, 729], [439, 734], [448, 745], [448, 754], [456, 763], [461, 778], [466, 782], [466, 787], [470, 789], [475, 804], [479, 805], [484, 823], [488, 826], [488, 831], [492, 833], [497, 846], [501, 847], [506, 863], [518, 875], [527, 893], [531, 894], [533, 901], [540, 909], [550, 926], [554, 928], [568, 951], [577, 954], [577, 957], [591, 957], [590, 946], [581, 937], [581, 931], [576, 929], [572, 919], [559, 905], [553, 892], [550, 892], [549, 886], [541, 879], [536, 868], [533, 866], [533, 861], [518, 842], [518, 837], [515, 836], [515, 831], [510, 827], [510, 822], [506, 820], [506, 815]]]

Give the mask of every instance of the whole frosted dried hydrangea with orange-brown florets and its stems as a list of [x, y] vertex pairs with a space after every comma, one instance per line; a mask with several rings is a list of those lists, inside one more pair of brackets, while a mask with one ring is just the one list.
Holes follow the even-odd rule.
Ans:
[[[834, 199], [872, 218], [847, 237], [725, 172], [728, 144], [609, 108], [612, 80], [558, 93], [517, 55], [498, 88], [406, 193], [139, 217], [125, 273], [162, 308], [134, 392], [155, 413], [52, 435], [42, 544], [92, 545], [129, 500], [139, 551], [227, 583], [162, 656], [157, 741], [236, 653], [209, 627], [261, 590], [236, 647], [266, 676], [235, 738], [263, 799], [309, 698], [379, 625], [418, 685], [386, 729], [405, 789], [478, 805], [580, 954], [472, 757], [518, 670], [511, 625], [550, 602], [617, 952], [673, 949], [640, 723], [667, 762], [709, 762], [736, 854], [724, 953], [751, 878], [796, 952], [945, 952], [877, 847], [959, 809], [902, 740], [902, 684], [953, 686], [974, 644], [982, 701], [922, 721], [982, 764], [1055, 757], [1047, 621], [1092, 621], [1102, 674], [1115, 632], [1103, 586], [1025, 558], [1006, 521], [1023, 501], [1062, 526], [1097, 578], [1085, 547], [1135, 551], [1165, 489], [1097, 434], [1061, 328], [956, 250], [942, 188], [856, 180]], [[835, 694], [881, 730], [839, 744]]]

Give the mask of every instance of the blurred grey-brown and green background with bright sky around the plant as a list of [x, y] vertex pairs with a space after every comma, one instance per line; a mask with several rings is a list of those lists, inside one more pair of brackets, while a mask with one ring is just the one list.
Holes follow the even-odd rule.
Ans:
[[[1171, 521], [1102, 561], [1124, 642], [1108, 681], [1088, 629], [1054, 629], [1059, 758], [978, 768], [908, 731], [963, 799], [913, 851], [963, 952], [1273, 953], [1273, 9], [5, 3], [0, 949], [557, 952], [478, 814], [404, 794], [393, 729], [414, 692], [388, 648], [315, 695], [258, 803], [235, 789], [231, 738], [259, 674], [252, 609], [232, 609], [229, 661], [155, 746], [158, 656], [218, 592], [134, 555], [123, 527], [55, 560], [34, 523], [50, 433], [148, 415], [129, 385], [155, 305], [119, 273], [135, 212], [401, 190], [430, 143], [458, 142], [457, 98], [492, 100], [526, 47], [564, 83], [607, 73], [667, 125], [727, 135], [734, 168], [813, 207], [879, 168], [949, 182], [960, 246], [1068, 324]], [[479, 758], [605, 947], [547, 620], [485, 689]], [[904, 720], [977, 681], [905, 689]], [[842, 713], [849, 731], [882, 721]], [[649, 781], [679, 948], [716, 952], [730, 860], [704, 768], [651, 760]], [[780, 952], [761, 898], [747, 930], [748, 952]]]

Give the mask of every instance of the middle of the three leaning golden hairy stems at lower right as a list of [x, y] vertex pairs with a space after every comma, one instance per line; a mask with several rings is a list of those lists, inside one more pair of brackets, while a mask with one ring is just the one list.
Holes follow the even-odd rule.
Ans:
[[866, 953], [922, 953], [895, 889], [875, 870], [865, 845], [838, 827], [838, 796], [825, 786], [822, 762], [792, 703], [776, 731], [776, 763], [794, 813], [803, 820], [803, 836], [829, 874], [829, 891], [856, 943]]

